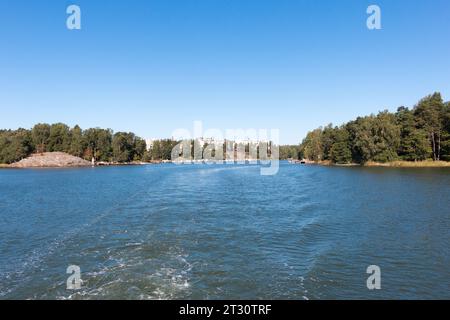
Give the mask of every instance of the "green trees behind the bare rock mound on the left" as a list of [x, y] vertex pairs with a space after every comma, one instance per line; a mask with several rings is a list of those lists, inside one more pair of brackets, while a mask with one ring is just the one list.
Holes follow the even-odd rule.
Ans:
[[34, 152], [66, 152], [96, 161], [149, 161], [170, 159], [176, 141], [153, 142], [147, 151], [145, 140], [131, 132], [114, 133], [110, 129], [79, 126], [69, 128], [63, 123], [37, 124], [31, 130], [0, 130], [0, 163], [13, 163]]

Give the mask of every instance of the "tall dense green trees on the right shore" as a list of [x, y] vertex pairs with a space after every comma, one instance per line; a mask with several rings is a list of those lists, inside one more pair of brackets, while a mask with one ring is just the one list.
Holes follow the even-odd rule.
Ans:
[[336, 164], [450, 161], [450, 103], [434, 93], [412, 109], [400, 107], [395, 113], [382, 111], [318, 128], [301, 143], [299, 157]]

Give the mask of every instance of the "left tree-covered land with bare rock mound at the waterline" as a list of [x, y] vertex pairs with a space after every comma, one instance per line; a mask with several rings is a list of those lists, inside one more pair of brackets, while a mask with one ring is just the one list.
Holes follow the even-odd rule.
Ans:
[[170, 160], [177, 143], [162, 139], [147, 145], [132, 132], [39, 123], [32, 129], [0, 130], [0, 168], [158, 164]]

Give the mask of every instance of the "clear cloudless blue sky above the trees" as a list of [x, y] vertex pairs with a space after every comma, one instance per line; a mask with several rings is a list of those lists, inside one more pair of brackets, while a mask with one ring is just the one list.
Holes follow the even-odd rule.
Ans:
[[[77, 4], [82, 30], [66, 28]], [[382, 30], [366, 28], [366, 8]], [[280, 129], [450, 100], [448, 0], [0, 0], [0, 128], [37, 122], [170, 137]]]

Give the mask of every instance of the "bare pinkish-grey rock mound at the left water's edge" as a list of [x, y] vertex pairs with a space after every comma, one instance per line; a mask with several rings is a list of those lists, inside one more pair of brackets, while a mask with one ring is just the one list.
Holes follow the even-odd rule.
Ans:
[[64, 152], [36, 153], [10, 165], [11, 168], [65, 168], [89, 167], [89, 161], [71, 156]]

